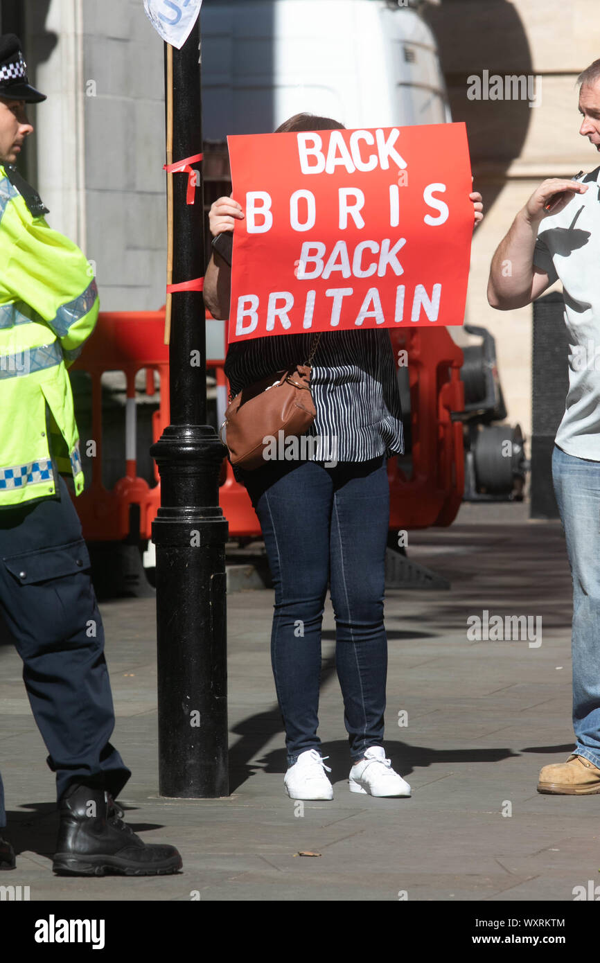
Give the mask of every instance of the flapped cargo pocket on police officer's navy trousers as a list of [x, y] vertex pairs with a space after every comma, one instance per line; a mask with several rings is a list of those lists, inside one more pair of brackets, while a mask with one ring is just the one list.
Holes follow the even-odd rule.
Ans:
[[83, 538], [7, 556], [2, 563], [12, 576], [8, 607], [17, 642], [38, 643], [43, 650], [85, 629], [95, 600]]

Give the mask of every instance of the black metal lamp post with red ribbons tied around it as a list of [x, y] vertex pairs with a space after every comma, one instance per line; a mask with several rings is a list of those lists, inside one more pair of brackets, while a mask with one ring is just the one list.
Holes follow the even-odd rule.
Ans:
[[[199, 49], [199, 20], [181, 50], [165, 44], [168, 164], [202, 151]], [[193, 204], [187, 203], [188, 174], [168, 174], [170, 266], [175, 285], [204, 273], [201, 163], [194, 167], [199, 176]], [[225, 450], [215, 430], [206, 425], [205, 313], [197, 287], [170, 295], [170, 426], [150, 451], [161, 476], [161, 507], [152, 526], [159, 792], [207, 798], [229, 792], [228, 527], [219, 507]]]

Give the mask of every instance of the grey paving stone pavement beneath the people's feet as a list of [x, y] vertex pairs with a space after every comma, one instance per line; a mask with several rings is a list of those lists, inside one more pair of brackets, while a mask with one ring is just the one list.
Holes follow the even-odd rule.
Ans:
[[[539, 768], [566, 759], [573, 744], [571, 585], [560, 524], [530, 522], [525, 505], [464, 506], [450, 529], [409, 534], [409, 556], [452, 583], [451, 591], [386, 596], [385, 745], [411, 798], [348, 790], [328, 601], [319, 735], [334, 799], [300, 805], [287, 797], [266, 589], [228, 597], [230, 796], [160, 798], [154, 600], [106, 602], [113, 742], [133, 769], [120, 802], [146, 842], [180, 849], [184, 872], [53, 875], [54, 777], [20, 662], [2, 645], [0, 768], [18, 855], [16, 871], [0, 881], [28, 885], [32, 900], [157, 901], [572, 900], [575, 886], [595, 885], [600, 795], [535, 791]], [[539, 616], [541, 644], [469, 640], [467, 618], [483, 610]], [[320, 856], [297, 855], [303, 850]]]

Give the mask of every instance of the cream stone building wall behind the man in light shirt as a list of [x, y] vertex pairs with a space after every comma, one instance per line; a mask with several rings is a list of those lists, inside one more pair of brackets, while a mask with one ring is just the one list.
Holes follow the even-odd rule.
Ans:
[[[509, 421], [532, 424], [532, 306], [495, 311], [485, 296], [489, 264], [517, 210], [546, 177], [598, 166], [578, 131], [577, 75], [600, 57], [597, 0], [442, 0], [427, 18], [439, 43], [453, 117], [467, 124], [485, 218], [475, 233], [467, 321], [496, 338]], [[468, 78], [539, 77], [528, 100], [470, 100]], [[453, 329], [457, 332], [457, 329]], [[462, 332], [457, 332], [461, 340]]]

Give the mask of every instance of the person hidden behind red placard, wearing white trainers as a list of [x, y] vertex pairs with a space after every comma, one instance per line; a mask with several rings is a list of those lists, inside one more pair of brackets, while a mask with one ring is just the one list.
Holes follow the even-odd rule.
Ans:
[[[276, 133], [341, 130], [330, 117], [300, 114]], [[481, 195], [472, 194], [480, 220]], [[221, 197], [211, 207], [215, 252], [204, 280], [206, 305], [229, 312], [231, 269], [223, 235], [244, 219]], [[219, 253], [221, 250], [222, 253]], [[224, 256], [222, 256], [224, 255]], [[268, 268], [267, 268], [268, 270]], [[386, 458], [404, 450], [395, 359], [387, 329], [272, 335], [230, 344], [225, 374], [232, 395], [302, 364], [311, 352], [317, 410], [312, 455], [235, 469], [252, 500], [274, 579], [272, 664], [286, 733], [286, 791], [294, 799], [331, 799], [330, 771], [317, 736], [321, 628], [327, 585], [336, 622], [335, 661], [344, 698], [352, 768], [350, 790], [408, 796], [383, 746], [387, 639], [384, 558], [389, 524]]]

